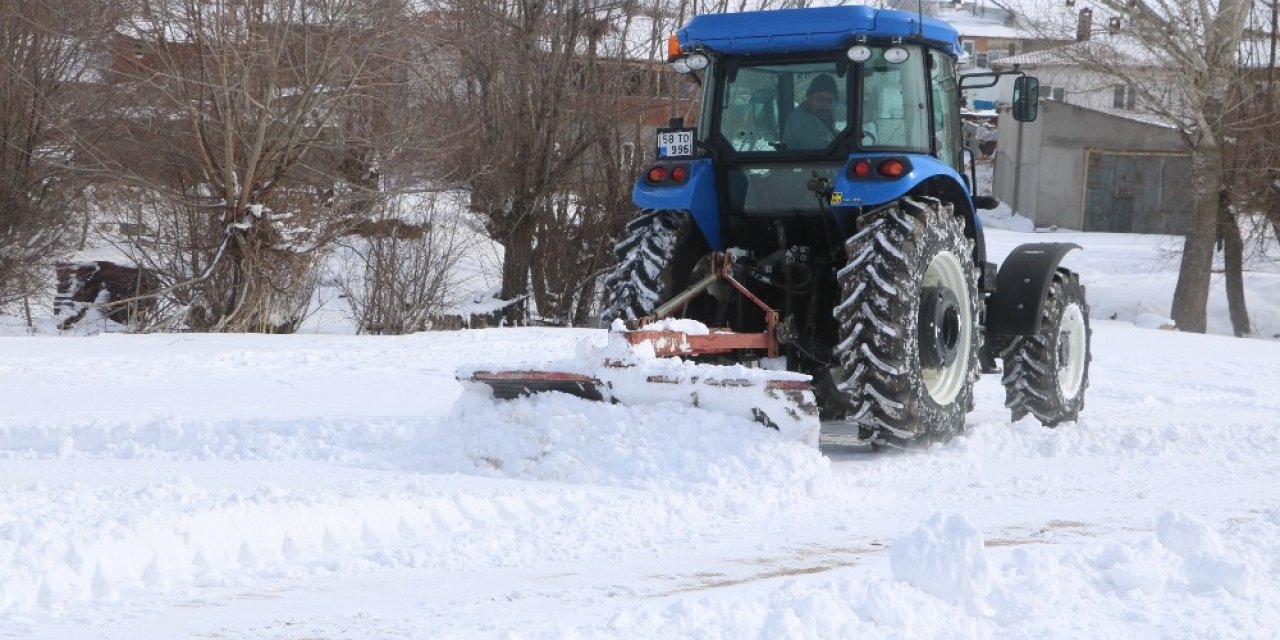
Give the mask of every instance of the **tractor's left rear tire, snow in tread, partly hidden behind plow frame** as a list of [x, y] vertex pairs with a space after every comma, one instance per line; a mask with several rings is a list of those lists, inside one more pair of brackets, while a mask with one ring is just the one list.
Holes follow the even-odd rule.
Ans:
[[687, 211], [657, 209], [645, 209], [627, 223], [626, 236], [613, 247], [617, 266], [604, 278], [603, 326], [616, 319], [644, 317], [671, 296], [672, 259], [691, 225]]

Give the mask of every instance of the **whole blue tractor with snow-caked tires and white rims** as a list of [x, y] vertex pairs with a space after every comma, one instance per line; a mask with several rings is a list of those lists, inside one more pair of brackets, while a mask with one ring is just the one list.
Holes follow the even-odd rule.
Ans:
[[[998, 78], [957, 76], [951, 26], [868, 6], [699, 15], [669, 52], [701, 84], [698, 125], [658, 131], [607, 321], [726, 328], [682, 355], [808, 374], [824, 422], [872, 443], [960, 433], [979, 372], [1002, 371], [1014, 420], [1078, 417], [1089, 308], [1060, 261], [1079, 247], [987, 261], [977, 214], [997, 202], [965, 175], [960, 109]], [[1012, 116], [1034, 119], [1038, 83], [1016, 76]]]

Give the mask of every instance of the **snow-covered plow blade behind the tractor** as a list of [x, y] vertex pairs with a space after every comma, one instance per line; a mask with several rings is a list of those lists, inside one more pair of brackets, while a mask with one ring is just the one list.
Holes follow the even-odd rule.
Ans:
[[818, 406], [809, 376], [742, 365], [707, 365], [653, 352], [591, 353], [590, 360], [538, 367], [460, 370], [471, 390], [512, 399], [561, 392], [627, 406], [676, 402], [744, 417], [783, 436], [818, 444]]

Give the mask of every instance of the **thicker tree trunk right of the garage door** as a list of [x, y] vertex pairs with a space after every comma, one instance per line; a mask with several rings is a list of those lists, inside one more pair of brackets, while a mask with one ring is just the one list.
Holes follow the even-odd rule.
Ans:
[[1217, 192], [1221, 183], [1222, 150], [1203, 145], [1192, 152], [1192, 193], [1196, 207], [1183, 244], [1183, 261], [1170, 310], [1178, 329], [1204, 333], [1208, 284], [1213, 269], [1213, 239], [1217, 236]]

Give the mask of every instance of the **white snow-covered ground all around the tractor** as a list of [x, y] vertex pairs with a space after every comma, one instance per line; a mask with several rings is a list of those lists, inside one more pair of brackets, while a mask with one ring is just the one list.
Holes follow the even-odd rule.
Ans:
[[968, 433], [918, 452], [689, 407], [456, 402], [456, 367], [594, 330], [10, 323], [0, 637], [1275, 637], [1275, 255], [1248, 274], [1263, 339], [1235, 339], [1153, 328], [1172, 239], [988, 228], [996, 257], [1044, 239], [1085, 247], [1082, 420], [1010, 424], [986, 376]]

